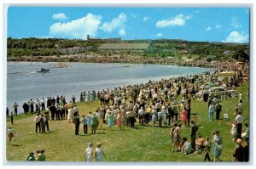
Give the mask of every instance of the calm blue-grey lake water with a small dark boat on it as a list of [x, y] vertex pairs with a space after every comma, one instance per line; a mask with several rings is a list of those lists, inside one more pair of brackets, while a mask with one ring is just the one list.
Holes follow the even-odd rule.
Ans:
[[[38, 73], [41, 67], [48, 73]], [[67, 68], [56, 68], [56, 63], [8, 62], [7, 63], [7, 106], [20, 105], [29, 99], [64, 95], [69, 101], [73, 95], [79, 100], [82, 91], [123, 87], [128, 84], [160, 80], [172, 76], [202, 73], [209, 69], [177, 67], [172, 65], [130, 65], [68, 63]]]

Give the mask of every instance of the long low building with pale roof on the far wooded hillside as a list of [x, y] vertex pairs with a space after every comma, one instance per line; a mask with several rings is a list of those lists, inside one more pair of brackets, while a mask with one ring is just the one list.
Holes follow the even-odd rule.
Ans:
[[103, 43], [98, 50], [109, 53], [152, 53], [154, 51], [150, 43]]

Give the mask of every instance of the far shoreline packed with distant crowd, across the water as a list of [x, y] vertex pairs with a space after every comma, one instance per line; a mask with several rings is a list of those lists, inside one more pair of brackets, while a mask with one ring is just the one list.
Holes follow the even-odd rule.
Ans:
[[52, 55], [52, 56], [19, 56], [8, 57], [7, 61], [26, 61], [26, 62], [84, 62], [84, 63], [120, 63], [120, 64], [151, 64], [151, 65], [177, 65], [189, 67], [217, 68], [218, 64], [212, 65], [204, 59], [195, 62], [185, 60], [173, 60], [161, 57], [144, 57], [139, 55], [128, 56], [103, 56], [103, 55]]

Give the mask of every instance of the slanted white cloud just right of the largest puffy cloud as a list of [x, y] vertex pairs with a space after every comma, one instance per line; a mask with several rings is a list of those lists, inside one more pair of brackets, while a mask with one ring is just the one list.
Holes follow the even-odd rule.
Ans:
[[105, 32], [111, 32], [118, 28], [124, 28], [126, 22], [126, 15], [119, 14], [117, 18], [114, 18], [111, 22], [104, 22], [100, 29]]

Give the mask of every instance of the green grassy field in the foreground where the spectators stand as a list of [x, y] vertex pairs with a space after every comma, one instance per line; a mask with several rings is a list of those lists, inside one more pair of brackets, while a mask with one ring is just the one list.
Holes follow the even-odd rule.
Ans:
[[[249, 102], [247, 99], [248, 82], [242, 87], [237, 87], [237, 93], [243, 94], [243, 108], [245, 122], [249, 121]], [[180, 100], [180, 98], [179, 98]], [[232, 142], [230, 135], [231, 123], [235, 116], [234, 107], [238, 98], [222, 100], [223, 110], [228, 112], [230, 121], [208, 121], [207, 103], [200, 100], [192, 101], [191, 113], [197, 113], [198, 125], [202, 136], [209, 136], [212, 139], [212, 131], [219, 129], [223, 137], [224, 149], [220, 156], [221, 161], [231, 162], [232, 151], [235, 143]], [[79, 114], [86, 115], [89, 111], [95, 111], [100, 105], [99, 101], [91, 104], [79, 103]], [[45, 149], [46, 161], [85, 161], [84, 149], [89, 142], [96, 145], [96, 142], [102, 142], [102, 148], [107, 155], [104, 161], [166, 161], [166, 162], [201, 162], [204, 154], [183, 155], [179, 152], [172, 152], [172, 139], [169, 136], [170, 127], [159, 128], [149, 126], [136, 126], [136, 129], [130, 127], [117, 127], [108, 129], [103, 127], [102, 133], [97, 130], [94, 135], [84, 135], [82, 125], [80, 125], [79, 136], [74, 134], [74, 124], [63, 121], [49, 121], [49, 130], [47, 133], [36, 133], [35, 122], [36, 115], [19, 115], [15, 117], [13, 129], [17, 132], [15, 142], [9, 144], [6, 138], [6, 158], [7, 161], [26, 161], [26, 156], [30, 151], [36, 149]], [[221, 118], [223, 113], [221, 114]], [[215, 115], [214, 115], [215, 119]], [[7, 121], [6, 127], [9, 127], [10, 121]], [[244, 127], [244, 126], [243, 126]], [[184, 127], [182, 138], [189, 138], [190, 127]], [[90, 132], [89, 132], [90, 133]], [[190, 141], [190, 140], [189, 140]], [[212, 155], [211, 158], [213, 159]]]

